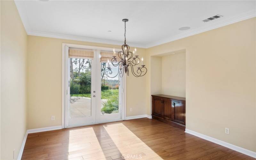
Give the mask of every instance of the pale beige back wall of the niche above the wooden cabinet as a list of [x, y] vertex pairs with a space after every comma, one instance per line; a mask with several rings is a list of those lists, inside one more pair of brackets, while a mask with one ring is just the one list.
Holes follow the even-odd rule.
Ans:
[[186, 97], [186, 53], [162, 57], [162, 94]]

